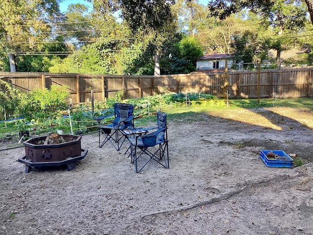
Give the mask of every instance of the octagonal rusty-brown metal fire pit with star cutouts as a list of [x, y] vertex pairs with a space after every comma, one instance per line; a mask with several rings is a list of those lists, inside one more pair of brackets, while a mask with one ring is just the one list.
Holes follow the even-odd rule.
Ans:
[[85, 158], [87, 149], [81, 148], [81, 136], [60, 135], [66, 141], [58, 144], [44, 144], [47, 136], [31, 138], [23, 142], [25, 155], [18, 162], [25, 164], [25, 173], [31, 167], [48, 167], [67, 165], [68, 170], [75, 167], [74, 162]]

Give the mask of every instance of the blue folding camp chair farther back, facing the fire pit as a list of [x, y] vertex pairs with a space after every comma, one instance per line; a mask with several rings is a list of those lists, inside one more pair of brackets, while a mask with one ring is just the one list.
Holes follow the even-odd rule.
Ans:
[[[106, 142], [110, 141], [114, 148], [119, 151], [125, 141], [125, 136], [120, 134], [121, 130], [134, 127], [134, 107], [132, 104], [115, 103], [114, 113], [106, 116], [95, 117], [100, 123], [101, 120], [115, 116], [113, 122], [108, 125], [99, 125], [99, 147], [101, 148]], [[100, 134], [104, 134], [105, 139], [100, 141]]]

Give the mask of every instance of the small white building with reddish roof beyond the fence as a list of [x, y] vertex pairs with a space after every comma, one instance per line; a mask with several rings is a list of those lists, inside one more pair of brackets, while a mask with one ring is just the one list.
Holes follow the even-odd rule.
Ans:
[[234, 63], [231, 54], [227, 53], [205, 54], [197, 59], [197, 71], [225, 69], [226, 60], [227, 68], [231, 69]]

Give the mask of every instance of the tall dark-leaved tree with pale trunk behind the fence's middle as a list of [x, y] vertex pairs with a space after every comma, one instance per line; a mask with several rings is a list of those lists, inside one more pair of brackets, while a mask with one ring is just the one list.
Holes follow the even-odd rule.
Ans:
[[143, 38], [151, 38], [155, 49], [155, 75], [159, 75], [159, 48], [169, 32], [176, 32], [176, 17], [172, 14], [174, 0], [94, 0], [99, 12], [121, 10], [121, 17], [132, 31], [140, 32]]

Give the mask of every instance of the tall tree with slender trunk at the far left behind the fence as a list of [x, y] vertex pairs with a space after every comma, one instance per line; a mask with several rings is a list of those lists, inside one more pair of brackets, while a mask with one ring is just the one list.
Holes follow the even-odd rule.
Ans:
[[42, 47], [60, 14], [59, 0], [1, 0], [0, 43], [6, 44], [10, 70], [16, 71], [15, 55]]

